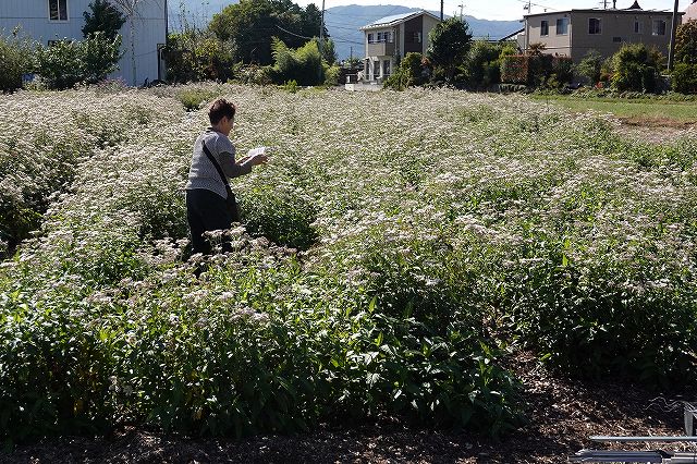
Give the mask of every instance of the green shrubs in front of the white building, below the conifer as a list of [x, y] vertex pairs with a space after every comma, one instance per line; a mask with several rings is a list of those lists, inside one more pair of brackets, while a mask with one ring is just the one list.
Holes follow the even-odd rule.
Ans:
[[121, 36], [109, 40], [99, 32], [83, 41], [59, 40], [52, 46], [38, 46], [36, 72], [49, 88], [94, 84], [118, 69], [120, 48]]

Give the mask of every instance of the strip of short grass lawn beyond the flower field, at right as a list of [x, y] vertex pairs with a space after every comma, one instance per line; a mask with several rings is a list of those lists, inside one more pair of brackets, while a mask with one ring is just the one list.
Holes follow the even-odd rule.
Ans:
[[561, 105], [572, 111], [612, 113], [631, 124], [684, 125], [697, 123], [697, 101], [658, 99], [574, 98], [566, 96], [534, 96], [535, 100]]

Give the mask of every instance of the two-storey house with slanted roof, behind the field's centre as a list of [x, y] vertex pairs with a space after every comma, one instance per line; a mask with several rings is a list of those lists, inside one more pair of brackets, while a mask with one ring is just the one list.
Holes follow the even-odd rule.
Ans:
[[440, 19], [428, 11], [382, 17], [360, 27], [365, 37], [364, 81], [381, 83], [409, 52], [425, 54], [428, 34]]

